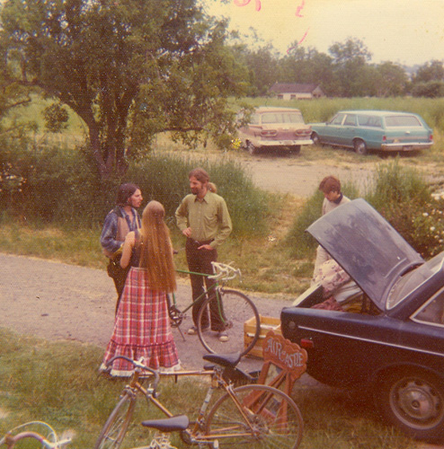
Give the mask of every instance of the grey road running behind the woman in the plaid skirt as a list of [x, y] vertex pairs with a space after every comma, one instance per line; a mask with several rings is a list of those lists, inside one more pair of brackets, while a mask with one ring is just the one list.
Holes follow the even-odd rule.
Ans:
[[[288, 301], [252, 297], [259, 313], [280, 316]], [[188, 304], [191, 288], [179, 286], [179, 304]], [[86, 269], [49, 260], [0, 253], [0, 327], [43, 339], [68, 339], [105, 348], [114, 322], [116, 293], [111, 277], [99, 269]], [[191, 327], [191, 317], [182, 330]], [[206, 354], [197, 336], [183, 341], [174, 329], [182, 365], [200, 368]], [[245, 359], [245, 369], [262, 365]]]

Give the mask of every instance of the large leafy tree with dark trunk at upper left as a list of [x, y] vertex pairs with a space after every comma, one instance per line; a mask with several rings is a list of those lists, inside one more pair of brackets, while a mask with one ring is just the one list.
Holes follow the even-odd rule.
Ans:
[[126, 156], [160, 131], [190, 142], [232, 130], [227, 97], [244, 92], [242, 67], [225, 46], [226, 23], [196, 0], [8, 0], [2, 22], [12, 82], [84, 120], [102, 180], [123, 175]]

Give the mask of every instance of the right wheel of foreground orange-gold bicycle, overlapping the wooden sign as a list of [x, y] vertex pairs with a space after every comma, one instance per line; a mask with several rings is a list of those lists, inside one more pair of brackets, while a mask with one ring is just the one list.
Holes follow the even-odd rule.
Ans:
[[302, 439], [302, 415], [287, 394], [268, 385], [244, 385], [226, 393], [209, 412], [206, 434], [221, 448], [296, 449]]

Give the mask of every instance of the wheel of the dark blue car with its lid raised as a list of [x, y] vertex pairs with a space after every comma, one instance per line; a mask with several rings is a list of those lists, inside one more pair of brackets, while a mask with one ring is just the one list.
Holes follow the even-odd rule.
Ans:
[[386, 419], [417, 439], [444, 437], [444, 384], [419, 370], [396, 371], [379, 383], [377, 398]]

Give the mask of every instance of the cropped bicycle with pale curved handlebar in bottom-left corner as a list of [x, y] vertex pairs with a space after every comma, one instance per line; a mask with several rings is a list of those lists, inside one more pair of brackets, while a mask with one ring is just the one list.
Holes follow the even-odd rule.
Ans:
[[[40, 430], [40, 432], [35, 432], [32, 430], [22, 430], [25, 427], [41, 427], [42, 430]], [[13, 435], [19, 430], [22, 431], [17, 433], [16, 435]], [[43, 436], [41, 435], [41, 433], [47, 433], [48, 435]], [[42, 421], [31, 421], [9, 430], [6, 435], [4, 435], [2, 439], [0, 439], [0, 446], [6, 445], [7, 449], [13, 449], [14, 445], [26, 438], [37, 440], [41, 445], [40, 447], [46, 449], [61, 449], [63, 446], [71, 443], [71, 438], [59, 440], [56, 431], [52, 427], [50, 427], [49, 424]], [[27, 447], [30, 447], [30, 445], [27, 445]]]

